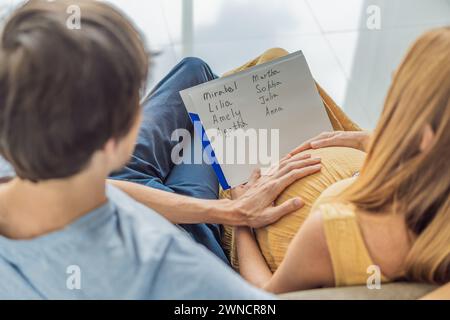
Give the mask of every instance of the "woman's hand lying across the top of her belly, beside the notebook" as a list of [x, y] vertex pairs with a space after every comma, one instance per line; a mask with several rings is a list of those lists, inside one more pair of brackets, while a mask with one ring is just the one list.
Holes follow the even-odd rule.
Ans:
[[334, 131], [323, 132], [309, 139], [290, 153], [293, 156], [309, 149], [320, 149], [326, 147], [348, 147], [361, 151], [367, 151], [370, 133], [367, 131]]

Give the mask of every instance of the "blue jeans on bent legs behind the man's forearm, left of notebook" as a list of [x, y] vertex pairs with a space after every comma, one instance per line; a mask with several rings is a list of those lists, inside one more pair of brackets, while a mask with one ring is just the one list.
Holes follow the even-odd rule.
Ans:
[[[193, 136], [193, 125], [179, 91], [216, 78], [210, 67], [198, 58], [186, 58], [176, 65], [144, 100], [143, 122], [131, 161], [111, 178], [200, 199], [217, 199], [219, 185], [210, 165], [174, 165], [171, 159], [172, 149], [178, 144], [171, 140], [173, 131], [186, 129]], [[219, 225], [181, 227], [229, 263], [220, 245]]]

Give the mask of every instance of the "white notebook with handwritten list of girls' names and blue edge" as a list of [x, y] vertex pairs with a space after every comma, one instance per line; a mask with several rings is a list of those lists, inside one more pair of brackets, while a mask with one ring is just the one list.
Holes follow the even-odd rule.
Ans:
[[[180, 92], [223, 189], [332, 130], [301, 51]], [[201, 123], [201, 125], [198, 125]], [[203, 137], [203, 139], [201, 138]]]

